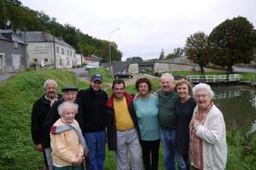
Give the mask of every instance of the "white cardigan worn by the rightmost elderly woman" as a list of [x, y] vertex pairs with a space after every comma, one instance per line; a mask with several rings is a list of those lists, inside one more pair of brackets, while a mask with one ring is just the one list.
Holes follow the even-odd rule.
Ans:
[[[198, 109], [197, 107], [195, 107], [193, 116]], [[224, 169], [227, 162], [227, 143], [222, 112], [215, 105], [212, 105], [204, 125], [196, 126], [195, 130], [196, 135], [202, 139], [204, 169]]]

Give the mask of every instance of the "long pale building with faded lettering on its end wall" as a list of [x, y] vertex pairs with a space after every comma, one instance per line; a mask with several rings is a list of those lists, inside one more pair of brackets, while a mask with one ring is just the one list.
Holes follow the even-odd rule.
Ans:
[[32, 67], [66, 69], [77, 65], [75, 49], [45, 31], [26, 31], [26, 43]]

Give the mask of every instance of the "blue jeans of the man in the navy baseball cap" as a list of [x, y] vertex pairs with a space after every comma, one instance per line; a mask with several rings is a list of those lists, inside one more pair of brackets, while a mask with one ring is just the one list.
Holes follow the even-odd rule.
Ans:
[[87, 170], [103, 170], [105, 161], [105, 131], [84, 133], [84, 139], [90, 151], [90, 156], [85, 158]]

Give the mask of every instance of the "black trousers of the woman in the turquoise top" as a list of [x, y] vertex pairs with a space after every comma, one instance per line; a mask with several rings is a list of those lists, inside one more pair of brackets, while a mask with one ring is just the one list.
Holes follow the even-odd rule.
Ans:
[[[152, 141], [141, 140], [140, 142], [143, 148], [143, 163], [145, 170], [157, 170], [159, 160], [160, 139]], [[152, 162], [151, 164], [150, 155]]]

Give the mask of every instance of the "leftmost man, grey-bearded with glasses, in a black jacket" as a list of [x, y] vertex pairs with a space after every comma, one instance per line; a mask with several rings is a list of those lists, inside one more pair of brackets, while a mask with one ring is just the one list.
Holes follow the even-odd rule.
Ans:
[[44, 95], [41, 96], [32, 107], [31, 133], [32, 140], [36, 144], [36, 149], [44, 153], [45, 169], [48, 169], [48, 163], [42, 145], [42, 127], [48, 115], [50, 106], [59, 99], [61, 95], [56, 94], [57, 82], [48, 79], [44, 82]]

